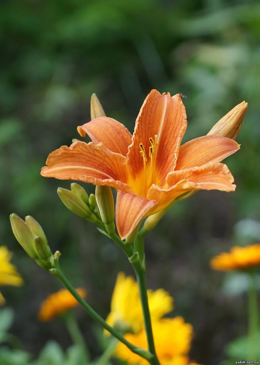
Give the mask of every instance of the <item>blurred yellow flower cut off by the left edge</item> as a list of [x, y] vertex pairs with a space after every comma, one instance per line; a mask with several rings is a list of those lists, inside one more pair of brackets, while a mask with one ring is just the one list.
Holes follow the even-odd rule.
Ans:
[[[17, 273], [15, 266], [11, 264], [12, 254], [5, 246], [0, 246], [0, 285], [13, 285], [19, 287], [23, 284], [23, 279]], [[4, 304], [5, 300], [0, 293], [0, 305]]]

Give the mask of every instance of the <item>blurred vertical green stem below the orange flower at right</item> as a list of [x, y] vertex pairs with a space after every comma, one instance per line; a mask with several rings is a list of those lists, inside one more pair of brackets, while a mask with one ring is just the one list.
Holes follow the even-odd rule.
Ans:
[[257, 341], [258, 341], [258, 326], [259, 314], [257, 303], [257, 285], [254, 273], [249, 274], [249, 288], [248, 288], [248, 360], [256, 359], [257, 356]]

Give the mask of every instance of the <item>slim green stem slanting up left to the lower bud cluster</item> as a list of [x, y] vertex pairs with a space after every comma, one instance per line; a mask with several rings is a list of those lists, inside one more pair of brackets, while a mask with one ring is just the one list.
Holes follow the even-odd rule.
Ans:
[[147, 361], [150, 362], [150, 364], [156, 365], [157, 363], [152, 362], [154, 358], [154, 354], [151, 354], [149, 351], [146, 351], [144, 349], [141, 349], [139, 347], [136, 347], [129, 341], [127, 341], [117, 330], [115, 330], [113, 327], [109, 326], [109, 324], [106, 323], [106, 321], [94, 311], [93, 308], [90, 307], [90, 305], [79, 295], [79, 293], [72, 287], [70, 282], [67, 280], [67, 278], [64, 276], [61, 270], [53, 269], [51, 271], [52, 274], [54, 274], [62, 283], [63, 285], [68, 289], [68, 291], [74, 296], [74, 298], [79, 302], [79, 304], [84, 308], [84, 310], [105, 330], [109, 331], [115, 338], [117, 338], [119, 341], [121, 341], [124, 345], [126, 345], [133, 353], [145, 358]]

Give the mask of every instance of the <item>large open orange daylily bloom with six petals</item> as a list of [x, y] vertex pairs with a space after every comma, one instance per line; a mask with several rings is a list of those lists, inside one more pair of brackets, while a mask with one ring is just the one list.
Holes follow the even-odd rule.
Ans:
[[220, 161], [239, 145], [226, 137], [207, 135], [181, 146], [186, 126], [180, 95], [152, 90], [133, 136], [117, 120], [95, 118], [78, 127], [79, 134], [87, 133], [92, 142], [76, 141], [53, 151], [41, 174], [117, 189], [116, 225], [124, 239], [140, 220], [185, 192], [235, 190], [231, 172]]

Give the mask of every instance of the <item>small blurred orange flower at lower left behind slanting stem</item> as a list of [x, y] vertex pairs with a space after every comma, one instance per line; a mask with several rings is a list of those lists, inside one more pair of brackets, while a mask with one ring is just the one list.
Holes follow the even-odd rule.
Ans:
[[[76, 289], [82, 298], [86, 298], [86, 291], [83, 288]], [[51, 320], [76, 307], [78, 301], [67, 289], [60, 289], [58, 292], [49, 295], [42, 303], [38, 319], [42, 322]]]

